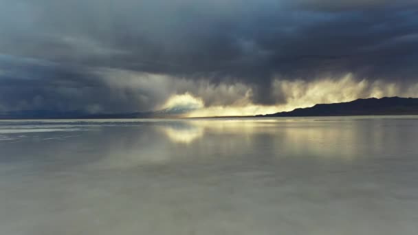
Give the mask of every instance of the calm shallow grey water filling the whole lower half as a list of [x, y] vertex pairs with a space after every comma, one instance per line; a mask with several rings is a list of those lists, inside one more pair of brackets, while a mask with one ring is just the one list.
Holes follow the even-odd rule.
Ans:
[[418, 117], [0, 121], [0, 234], [417, 234]]

